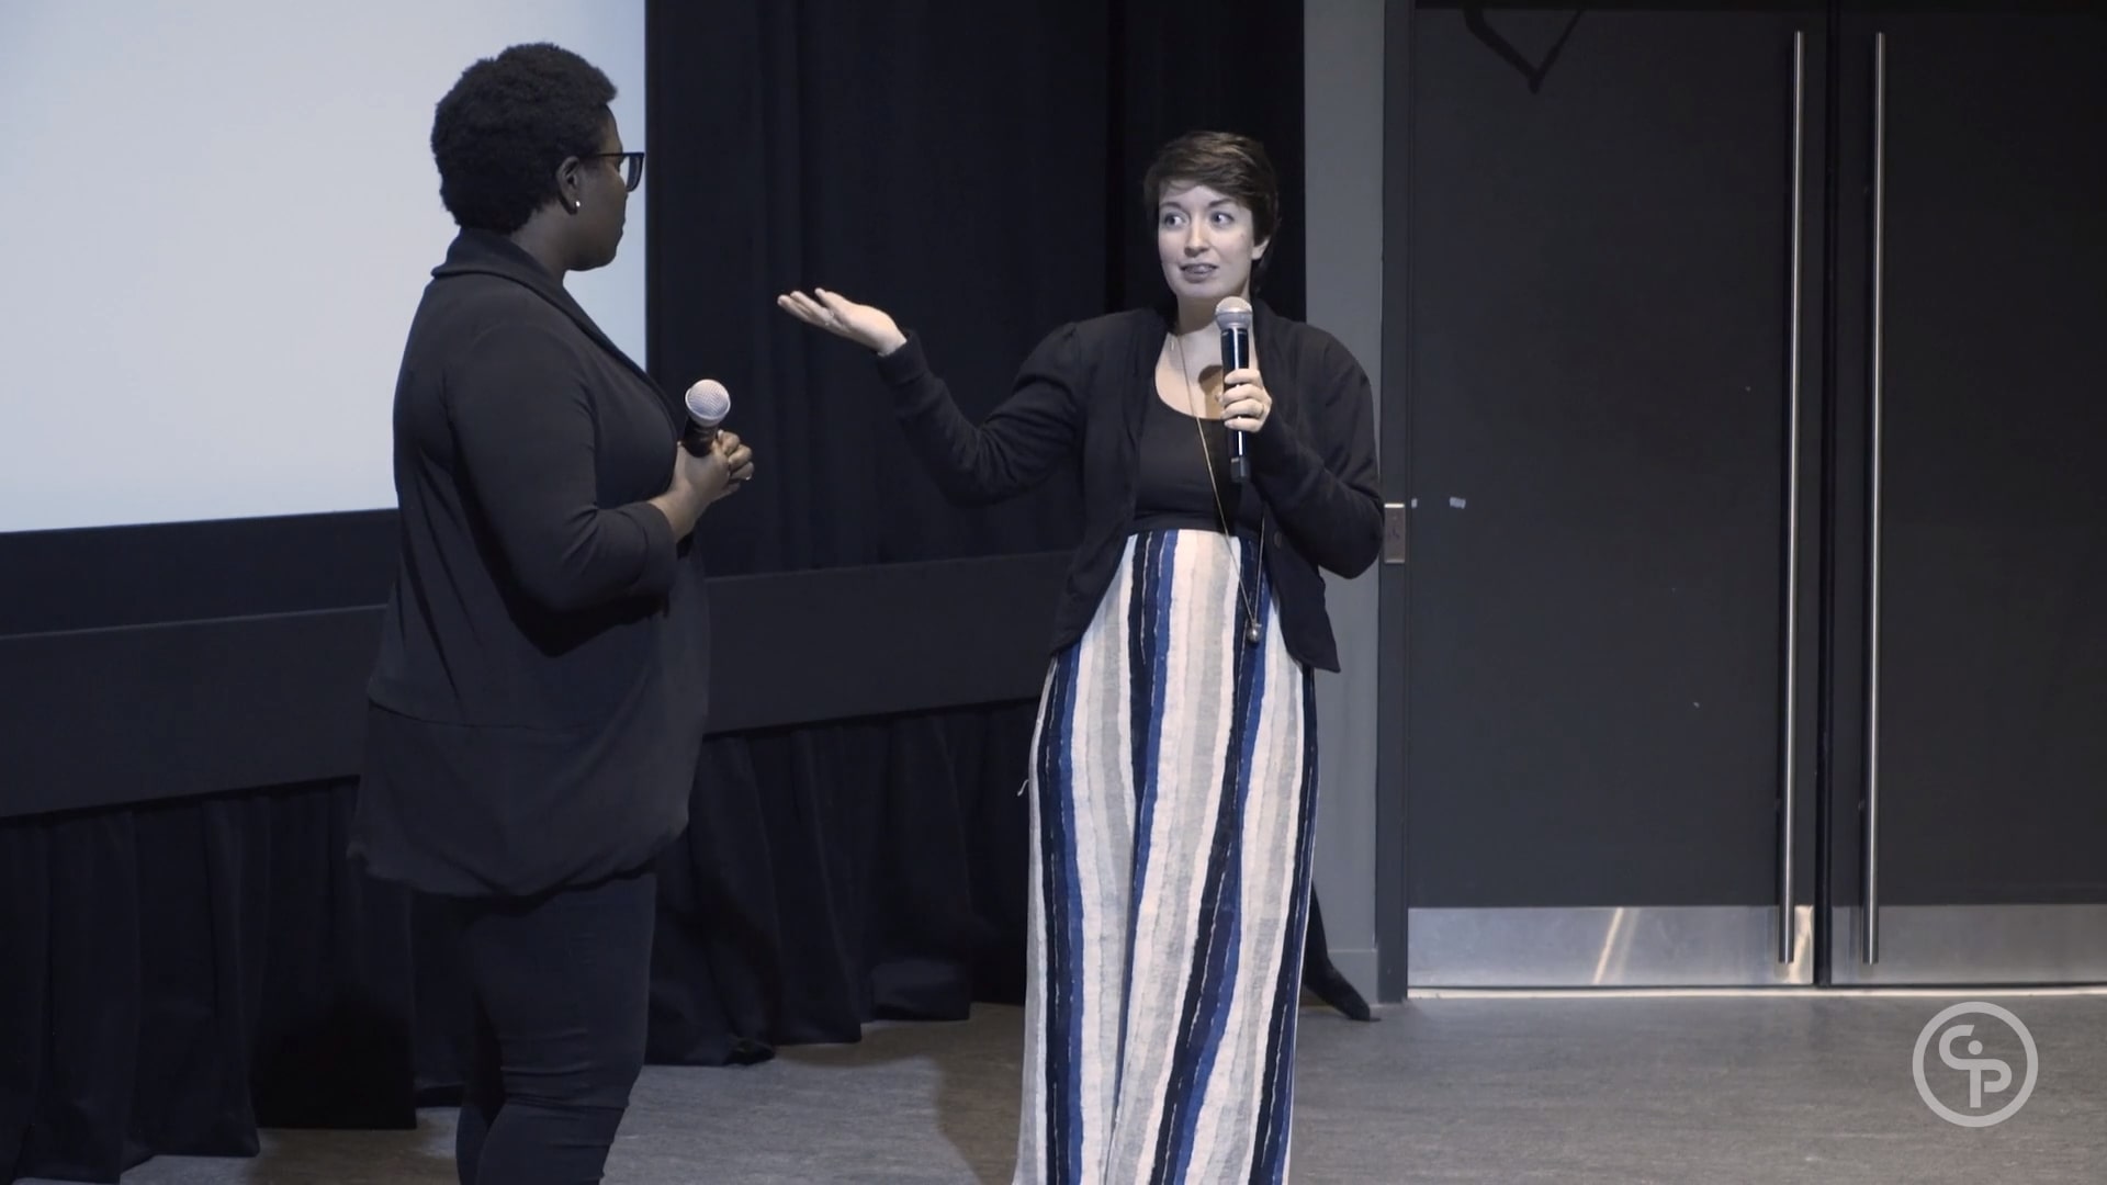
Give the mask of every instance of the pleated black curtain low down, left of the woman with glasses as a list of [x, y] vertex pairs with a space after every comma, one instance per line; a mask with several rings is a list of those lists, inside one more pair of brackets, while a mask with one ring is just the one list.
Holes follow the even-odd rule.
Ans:
[[413, 1126], [411, 915], [343, 858], [352, 795], [0, 822], [0, 1179]]

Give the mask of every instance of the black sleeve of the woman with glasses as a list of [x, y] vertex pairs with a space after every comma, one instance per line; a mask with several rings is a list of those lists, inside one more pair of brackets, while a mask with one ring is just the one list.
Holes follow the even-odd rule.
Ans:
[[[598, 506], [592, 392], [546, 329], [499, 325], [447, 375], [468, 487], [506, 565], [539, 605], [575, 611], [672, 588], [672, 523], [649, 502]], [[674, 443], [666, 441], [672, 474]]]

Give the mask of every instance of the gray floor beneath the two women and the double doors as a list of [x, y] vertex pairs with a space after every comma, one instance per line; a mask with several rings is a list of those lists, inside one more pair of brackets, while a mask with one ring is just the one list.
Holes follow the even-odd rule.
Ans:
[[[1976, 997], [1414, 999], [1376, 1025], [1308, 1008], [1294, 1181], [2107, 1181], [2107, 997], [1985, 997], [2042, 1065], [1989, 1128], [1936, 1118], [1911, 1075], [1955, 999]], [[752, 1069], [647, 1069], [607, 1179], [1009, 1181], [1018, 1037], [1018, 1010], [984, 1008]], [[1930, 1065], [1964, 1105], [1966, 1077]], [[160, 1158], [124, 1183], [451, 1185], [451, 1111], [415, 1132], [268, 1132], [255, 1160]]]

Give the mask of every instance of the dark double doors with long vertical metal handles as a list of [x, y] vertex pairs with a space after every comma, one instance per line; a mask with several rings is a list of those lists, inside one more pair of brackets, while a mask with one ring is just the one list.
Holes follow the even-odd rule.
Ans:
[[2107, 980], [2107, 19], [1407, 44], [1407, 983]]

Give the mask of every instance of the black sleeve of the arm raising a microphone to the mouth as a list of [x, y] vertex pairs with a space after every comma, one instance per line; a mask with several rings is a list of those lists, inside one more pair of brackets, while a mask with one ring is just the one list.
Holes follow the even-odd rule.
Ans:
[[1311, 401], [1308, 434], [1287, 415], [1249, 441], [1252, 481], [1302, 555], [1355, 578], [1382, 550], [1382, 489], [1376, 472], [1376, 396], [1367, 371], [1325, 337], [1275, 401]]

